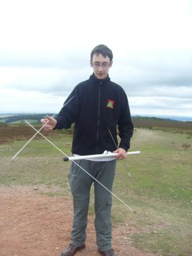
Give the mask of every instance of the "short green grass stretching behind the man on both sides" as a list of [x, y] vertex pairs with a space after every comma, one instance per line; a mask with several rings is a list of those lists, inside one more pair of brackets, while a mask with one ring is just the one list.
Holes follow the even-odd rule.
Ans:
[[[134, 246], [143, 251], [162, 256], [190, 256], [192, 137], [188, 131], [170, 131], [135, 130], [130, 151], [140, 150], [141, 154], [117, 162], [113, 192], [137, 214], [114, 198], [113, 224], [130, 227], [130, 233], [125, 229], [124, 236], [131, 235]], [[33, 130], [31, 134], [34, 134]], [[26, 138], [31, 137], [31, 134], [27, 134]], [[13, 133], [11, 135], [15, 138]], [[70, 134], [58, 133], [55, 137], [47, 135], [51, 142], [70, 154]], [[70, 197], [67, 181], [70, 163], [63, 162], [63, 155], [49, 142], [40, 137], [35, 138], [15, 161], [11, 161], [25, 144], [26, 138], [5, 139], [1, 142], [0, 183], [7, 186], [58, 186], [62, 193], [55, 191], [49, 195]], [[92, 196], [90, 214], [93, 214], [93, 202]]]

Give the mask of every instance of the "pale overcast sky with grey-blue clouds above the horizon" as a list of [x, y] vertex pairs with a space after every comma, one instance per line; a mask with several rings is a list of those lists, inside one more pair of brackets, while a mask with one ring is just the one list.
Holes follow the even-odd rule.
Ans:
[[103, 43], [131, 114], [191, 117], [191, 28], [190, 0], [1, 1], [0, 113], [58, 113]]

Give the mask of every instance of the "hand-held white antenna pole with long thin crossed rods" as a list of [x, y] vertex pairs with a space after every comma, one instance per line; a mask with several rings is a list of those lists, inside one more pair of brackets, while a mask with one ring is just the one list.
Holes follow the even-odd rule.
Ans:
[[[72, 98], [71, 98], [71, 99], [72, 99]], [[70, 99], [69, 101], [71, 101], [71, 99]], [[68, 101], [68, 102], [69, 102], [69, 101]], [[67, 102], [67, 103], [68, 103], [68, 102]], [[65, 105], [66, 105], [67, 103], [65, 103]], [[65, 105], [63, 105], [63, 107], [64, 107]], [[55, 115], [55, 114], [54, 114], [54, 115]], [[53, 115], [53, 117], [54, 117], [54, 115]], [[83, 167], [81, 167], [80, 165], [78, 165], [77, 162], [75, 162], [75, 160], [77, 160], [77, 159], [88, 159], [88, 158], [98, 158], [98, 157], [112, 157], [112, 158], [115, 159], [115, 155], [117, 155], [117, 153], [111, 153], [111, 152], [105, 151], [103, 154], [99, 154], [99, 155], [84, 155], [84, 156], [81, 156], [80, 158], [79, 158], [79, 157], [69, 157], [69, 156], [66, 155], [61, 149], [59, 149], [59, 147], [55, 146], [53, 142], [51, 142], [51, 141], [50, 141], [49, 139], [47, 139], [43, 134], [40, 133], [40, 131], [43, 129], [43, 127], [44, 127], [44, 126], [46, 125], [46, 123], [49, 122], [49, 121], [47, 121], [47, 122], [45, 123], [45, 125], [43, 125], [43, 126], [41, 127], [41, 129], [39, 129], [39, 130], [35, 129], [35, 127], [33, 127], [29, 122], [27, 122], [27, 121], [25, 121], [25, 122], [27, 123], [27, 125], [31, 126], [37, 133], [35, 133], [35, 134], [33, 135], [33, 137], [31, 137], [31, 138], [29, 139], [29, 141], [27, 141], [27, 142], [25, 143], [25, 145], [17, 152], [17, 154], [14, 155], [13, 160], [14, 160], [14, 159], [17, 157], [17, 155], [27, 146], [27, 144], [29, 144], [29, 142], [30, 142], [37, 134], [40, 134], [43, 138], [46, 139], [46, 141], [48, 141], [48, 142], [49, 142], [51, 145], [53, 145], [57, 150], [59, 150], [63, 155], [65, 155], [64, 161], [69, 161], [69, 160], [70, 160], [70, 161], [74, 162], [75, 165], [77, 165], [79, 168], [81, 168], [83, 171], [85, 171], [86, 174], [88, 174], [91, 178], [93, 178], [95, 181], [97, 181], [102, 187], [104, 187], [107, 191], [109, 191], [109, 193], [111, 193], [112, 195], [114, 195], [114, 197], [117, 198], [118, 201], [122, 202], [123, 205], [125, 205], [127, 208], [129, 208], [131, 211], [133, 211], [133, 213], [137, 214], [136, 211], [134, 211], [130, 206], [128, 206], [128, 205], [127, 205], [125, 202], [123, 202], [119, 197], [117, 197], [117, 195], [115, 195], [112, 191], [110, 191], [109, 189], [107, 189], [107, 187], [105, 187], [101, 182], [99, 182], [97, 179], [95, 179], [90, 173], [88, 173], [85, 169], [83, 169]], [[133, 152], [127, 153], [127, 155], [130, 155], [130, 154], [139, 154], [139, 153], [140, 153], [140, 151], [133, 151]]]

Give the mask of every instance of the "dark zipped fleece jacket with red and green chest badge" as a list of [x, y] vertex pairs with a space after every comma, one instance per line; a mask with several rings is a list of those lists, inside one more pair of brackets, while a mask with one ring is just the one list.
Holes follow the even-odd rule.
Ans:
[[[73, 97], [73, 98], [72, 98]], [[72, 98], [72, 99], [71, 99]], [[67, 129], [75, 122], [72, 153], [79, 155], [102, 154], [122, 147], [130, 147], [133, 135], [129, 103], [121, 86], [94, 74], [79, 83], [61, 109], [55, 129]], [[121, 141], [118, 146], [117, 126]]]

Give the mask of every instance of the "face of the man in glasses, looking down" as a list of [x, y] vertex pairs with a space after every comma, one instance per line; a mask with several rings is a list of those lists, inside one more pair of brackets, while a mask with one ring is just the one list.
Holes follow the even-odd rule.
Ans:
[[108, 56], [103, 57], [101, 53], [94, 54], [92, 61], [90, 61], [91, 67], [93, 67], [93, 72], [95, 77], [98, 79], [105, 79], [109, 72], [109, 68], [112, 66], [113, 61], [110, 62]]

